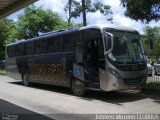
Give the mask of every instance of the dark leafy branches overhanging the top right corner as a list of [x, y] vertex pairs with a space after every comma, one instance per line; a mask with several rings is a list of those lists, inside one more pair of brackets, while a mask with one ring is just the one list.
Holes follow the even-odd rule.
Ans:
[[149, 23], [160, 20], [160, 0], [121, 0], [125, 15]]

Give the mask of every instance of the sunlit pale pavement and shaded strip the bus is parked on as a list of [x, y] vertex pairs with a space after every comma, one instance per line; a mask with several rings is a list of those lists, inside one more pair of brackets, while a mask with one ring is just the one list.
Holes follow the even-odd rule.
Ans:
[[[6, 76], [0, 76], [0, 99], [55, 120], [95, 117], [84, 114], [160, 113], [158, 96], [134, 91], [89, 91], [84, 97], [76, 97], [68, 88], [37, 84], [24, 87], [21, 81]], [[23, 111], [18, 113], [22, 114]]]

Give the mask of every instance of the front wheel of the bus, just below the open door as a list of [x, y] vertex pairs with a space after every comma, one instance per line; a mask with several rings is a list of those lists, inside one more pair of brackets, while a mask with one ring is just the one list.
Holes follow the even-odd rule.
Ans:
[[73, 79], [72, 81], [72, 91], [74, 95], [76, 96], [83, 96], [85, 93], [86, 87], [85, 83], [78, 80], [78, 79]]

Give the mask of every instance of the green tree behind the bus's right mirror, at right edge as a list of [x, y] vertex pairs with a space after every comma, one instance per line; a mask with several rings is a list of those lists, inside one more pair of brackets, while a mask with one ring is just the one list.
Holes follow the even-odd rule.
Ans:
[[150, 51], [148, 40], [146, 38], [142, 39], [147, 55], [150, 55], [151, 58], [157, 59], [160, 56], [160, 28], [147, 26], [144, 30], [144, 35], [154, 40], [153, 50]]

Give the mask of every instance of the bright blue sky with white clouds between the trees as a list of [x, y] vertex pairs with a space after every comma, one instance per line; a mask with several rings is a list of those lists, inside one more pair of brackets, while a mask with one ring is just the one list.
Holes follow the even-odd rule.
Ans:
[[[79, 0], [80, 1], [80, 0]], [[94, 1], [94, 0], [92, 0]], [[160, 21], [155, 22], [151, 21], [149, 24], [142, 23], [141, 21], [135, 21], [131, 20], [130, 18], [126, 17], [124, 15], [125, 8], [123, 8], [120, 4], [120, 0], [99, 0], [104, 4], [110, 5], [111, 10], [113, 12], [112, 18], [113, 18], [113, 24], [118, 26], [124, 26], [124, 27], [131, 27], [136, 30], [138, 30], [141, 34], [143, 34], [145, 26], [158, 26], [160, 27]], [[67, 20], [67, 15], [64, 12], [64, 6], [67, 0], [39, 0], [34, 3], [35, 6], [42, 6], [44, 9], [51, 9], [54, 12], [57, 12], [64, 20]], [[12, 15], [10, 15], [8, 18], [17, 20], [18, 15], [23, 14], [23, 10], [20, 10]], [[111, 23], [108, 22], [106, 16], [103, 16], [99, 11], [96, 13], [87, 13], [87, 24], [106, 24], [110, 25]], [[82, 16], [78, 17], [77, 19], [72, 19], [75, 23], [81, 23], [82, 22]]]

